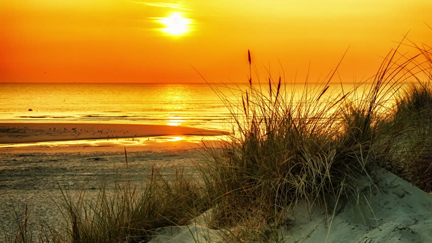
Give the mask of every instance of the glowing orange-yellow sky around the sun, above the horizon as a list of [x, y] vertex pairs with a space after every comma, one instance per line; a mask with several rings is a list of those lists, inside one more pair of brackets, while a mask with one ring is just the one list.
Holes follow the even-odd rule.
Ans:
[[[163, 0], [162, 0], [163, 1]], [[430, 42], [423, 0], [27, 0], [0, 2], [0, 82], [246, 82], [247, 49], [260, 77], [325, 76], [350, 46], [340, 74], [369, 77], [410, 30]], [[160, 18], [177, 12], [189, 31]], [[191, 66], [192, 65], [192, 66]]]

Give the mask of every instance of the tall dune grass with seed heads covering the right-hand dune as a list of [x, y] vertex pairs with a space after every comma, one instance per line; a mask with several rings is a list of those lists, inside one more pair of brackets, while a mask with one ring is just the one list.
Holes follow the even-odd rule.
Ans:
[[[281, 77], [275, 83], [269, 77], [265, 88], [249, 77], [238, 101], [225, 100], [235, 124], [232, 134], [222, 146], [204, 146], [200, 172], [214, 209], [209, 225], [236, 229], [229, 242], [275, 242], [274, 229], [286, 223], [285, 212], [300, 199], [326, 208], [331, 217], [338, 203], [359, 198], [356, 178], [381, 166], [430, 190], [430, 86], [400, 92], [417, 69], [427, 70], [414, 62], [425, 54], [430, 53], [420, 50], [401, 62], [405, 57], [393, 50], [362, 84], [363, 93], [342, 87], [327, 95], [336, 70], [325, 85], [306, 84], [300, 96]], [[384, 125], [388, 122], [393, 127]], [[395, 138], [394, 126], [402, 124], [408, 124], [401, 129], [412, 138]], [[409, 147], [396, 152], [407, 139]], [[384, 143], [391, 148], [380, 148]], [[383, 157], [392, 160], [382, 164]]]

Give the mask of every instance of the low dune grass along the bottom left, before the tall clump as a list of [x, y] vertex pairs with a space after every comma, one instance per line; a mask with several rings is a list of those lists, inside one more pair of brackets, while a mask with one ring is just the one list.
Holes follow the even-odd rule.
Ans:
[[[127, 173], [115, 185], [101, 185], [96, 195], [78, 195], [61, 189], [63, 200], [56, 202], [63, 223], [42, 225], [34, 240], [27, 233], [26, 214], [16, 213], [16, 235], [8, 242], [140, 242], [149, 240], [160, 227], [187, 224], [208, 209], [199, 185], [183, 171], [172, 178], [157, 170], [143, 185], [130, 184]], [[120, 180], [121, 179], [121, 180]], [[18, 220], [19, 219], [19, 220]]]

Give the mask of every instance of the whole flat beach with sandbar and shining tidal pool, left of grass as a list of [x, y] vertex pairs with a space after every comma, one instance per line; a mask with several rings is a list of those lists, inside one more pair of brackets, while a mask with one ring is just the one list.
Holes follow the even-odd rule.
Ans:
[[193, 173], [201, 139], [218, 134], [124, 124], [15, 123], [0, 124], [0, 131], [0, 227], [13, 232], [14, 210], [23, 215], [27, 204], [35, 235], [40, 222], [63, 222], [56, 205], [63, 201], [60, 189], [91, 197], [102, 185], [122, 181], [122, 175], [140, 187], [153, 170], [167, 177], [178, 169]]

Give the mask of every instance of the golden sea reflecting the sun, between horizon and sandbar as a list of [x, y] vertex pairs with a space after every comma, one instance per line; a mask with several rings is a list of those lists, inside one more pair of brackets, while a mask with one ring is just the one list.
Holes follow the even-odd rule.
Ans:
[[[319, 86], [308, 87], [318, 92], [325, 88]], [[268, 84], [263, 87], [268, 90]], [[294, 92], [301, 96], [304, 84], [295, 87]], [[346, 90], [352, 87], [353, 84], [344, 84]], [[247, 89], [248, 84], [0, 83], [0, 123], [152, 124], [227, 129], [226, 125], [232, 121], [229, 108]], [[340, 91], [340, 84], [331, 84], [328, 92]], [[227, 99], [233, 102], [226, 104]]]

